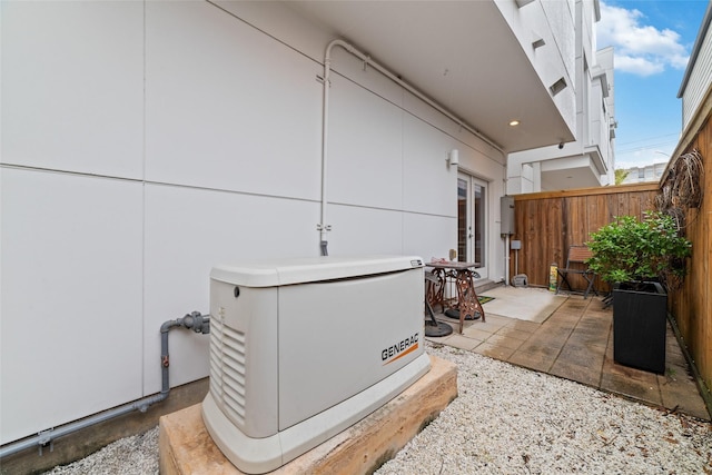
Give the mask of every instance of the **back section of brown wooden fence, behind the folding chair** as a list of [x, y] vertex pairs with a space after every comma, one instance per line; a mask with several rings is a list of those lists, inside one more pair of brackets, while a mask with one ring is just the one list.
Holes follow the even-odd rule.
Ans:
[[[570, 246], [585, 244], [591, 232], [616, 216], [642, 218], [655, 209], [657, 190], [659, 184], [652, 182], [516, 195], [512, 239], [522, 241], [516, 270], [526, 274], [530, 285], [548, 286], [550, 266], [564, 267]], [[510, 275], [514, 276], [515, 256], [510, 253]], [[586, 286], [581, 276], [570, 281], [574, 289]], [[594, 288], [607, 291], [609, 286], [596, 278]]]

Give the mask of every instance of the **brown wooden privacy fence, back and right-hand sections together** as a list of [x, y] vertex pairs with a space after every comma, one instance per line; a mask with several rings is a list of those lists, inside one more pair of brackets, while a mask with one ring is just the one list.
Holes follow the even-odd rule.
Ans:
[[[660, 206], [678, 218], [692, 241], [688, 275], [669, 289], [668, 308], [689, 353], [701, 394], [712, 413], [712, 88], [678, 144], [661, 182], [582, 188], [514, 197], [515, 234], [522, 241], [518, 274], [530, 285], [548, 286], [550, 266], [565, 266], [572, 245], [585, 244], [593, 231], [616, 216], [639, 218]], [[692, 159], [691, 159], [692, 158]], [[511, 250], [510, 275], [515, 274]], [[572, 279], [574, 288], [585, 283]], [[596, 279], [595, 288], [609, 286]]]

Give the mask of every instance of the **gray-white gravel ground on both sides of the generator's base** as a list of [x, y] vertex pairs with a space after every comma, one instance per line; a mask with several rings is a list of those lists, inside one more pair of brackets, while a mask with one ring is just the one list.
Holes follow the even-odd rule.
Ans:
[[[457, 348], [458, 397], [376, 472], [712, 474], [712, 424]], [[50, 474], [157, 474], [158, 428]]]

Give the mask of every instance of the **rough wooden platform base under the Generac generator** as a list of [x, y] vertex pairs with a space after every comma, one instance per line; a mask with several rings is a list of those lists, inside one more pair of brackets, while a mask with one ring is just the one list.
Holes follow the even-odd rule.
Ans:
[[[431, 370], [352, 427], [277, 468], [273, 474], [363, 474], [390, 459], [457, 397], [457, 368], [431, 356]], [[159, 422], [162, 475], [241, 474], [215, 445], [200, 404]]]

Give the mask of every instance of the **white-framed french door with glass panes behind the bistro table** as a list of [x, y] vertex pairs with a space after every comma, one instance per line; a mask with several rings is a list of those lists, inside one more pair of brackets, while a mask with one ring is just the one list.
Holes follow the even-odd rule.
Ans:
[[457, 174], [457, 260], [476, 263], [487, 277], [487, 182]]

